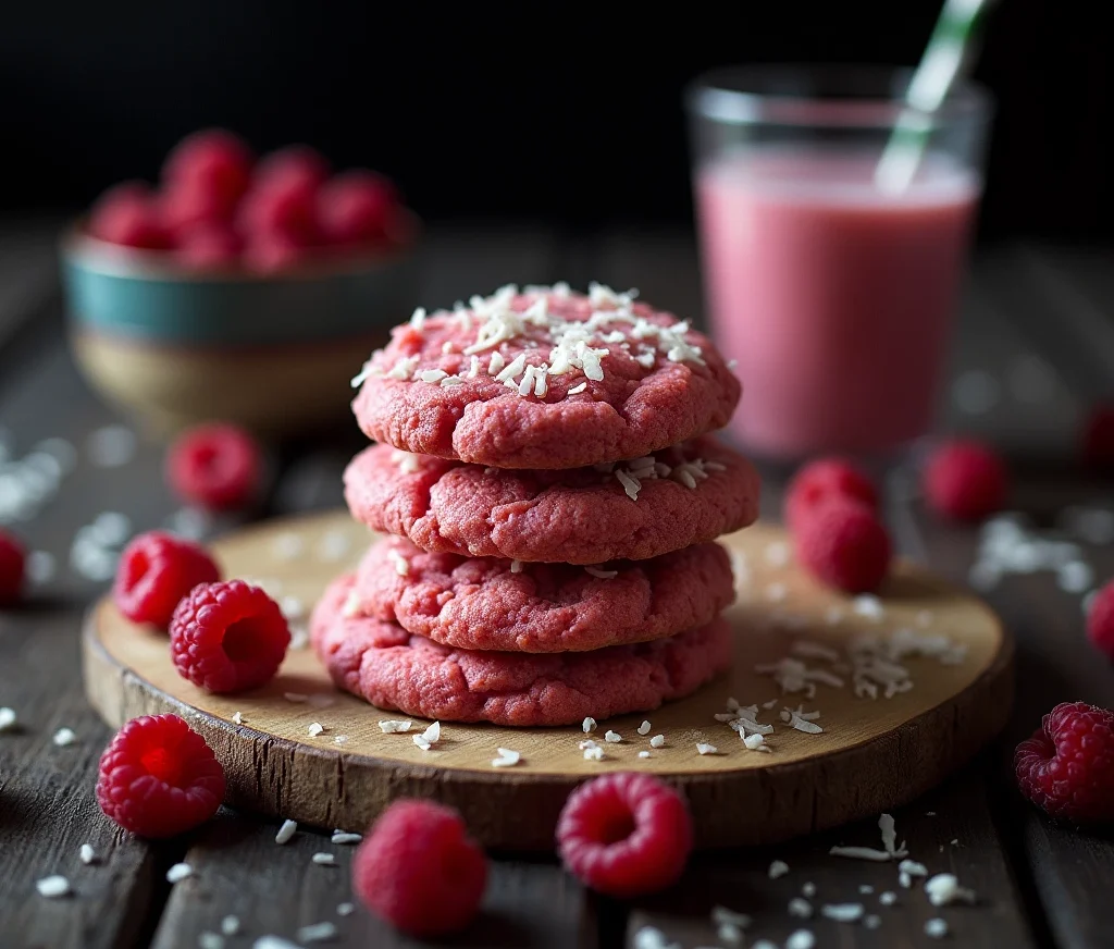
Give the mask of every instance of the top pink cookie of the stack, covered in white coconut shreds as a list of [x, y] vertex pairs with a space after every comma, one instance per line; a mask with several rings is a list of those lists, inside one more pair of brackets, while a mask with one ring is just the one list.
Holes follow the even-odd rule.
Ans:
[[353, 384], [370, 438], [499, 468], [639, 458], [722, 428], [742, 392], [687, 322], [595, 284], [418, 310]]

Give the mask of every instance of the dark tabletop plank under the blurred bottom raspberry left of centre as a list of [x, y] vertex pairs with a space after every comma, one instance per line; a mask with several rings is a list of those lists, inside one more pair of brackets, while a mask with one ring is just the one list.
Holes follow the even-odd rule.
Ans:
[[[355, 848], [305, 829], [280, 847], [276, 829], [229, 812], [207, 824], [185, 858], [194, 875], [174, 887], [154, 949], [195, 947], [202, 932], [219, 932], [229, 914], [241, 923], [240, 941], [229, 945], [265, 935], [297, 942], [302, 927], [321, 922], [336, 927], [331, 946], [429, 945], [395, 932], [352, 896]], [[313, 863], [314, 853], [333, 854], [336, 865]], [[354, 904], [350, 916], [338, 913], [345, 902]], [[594, 932], [584, 891], [556, 863], [491, 860], [480, 917], [451, 945], [590, 947]]]

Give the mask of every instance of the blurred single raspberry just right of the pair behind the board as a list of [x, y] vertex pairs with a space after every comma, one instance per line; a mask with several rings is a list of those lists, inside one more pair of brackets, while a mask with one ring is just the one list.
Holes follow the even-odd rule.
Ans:
[[981, 520], [1006, 501], [1008, 474], [987, 446], [957, 439], [932, 452], [922, 476], [928, 502], [955, 520]]

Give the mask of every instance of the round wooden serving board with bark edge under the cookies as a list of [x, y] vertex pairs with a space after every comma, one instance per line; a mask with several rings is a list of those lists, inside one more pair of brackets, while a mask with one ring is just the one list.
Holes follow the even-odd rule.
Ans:
[[[252, 579], [276, 597], [295, 597], [307, 614], [368, 540], [346, 513], [330, 513], [243, 530], [214, 549], [226, 576]], [[129, 624], [108, 599], [92, 609], [85, 629], [86, 689], [113, 725], [156, 712], [184, 715], [224, 764], [233, 806], [359, 831], [395, 798], [436, 798], [458, 808], [486, 844], [512, 849], [551, 847], [569, 790], [620, 770], [651, 772], [682, 787], [700, 847], [773, 843], [912, 800], [1005, 724], [1013, 646], [978, 599], [902, 562], [881, 591], [881, 616], [871, 615], [801, 570], [788, 556], [780, 528], [759, 525], [723, 542], [732, 551], [739, 588], [727, 614], [736, 632], [733, 671], [690, 698], [600, 723], [592, 737], [605, 746], [603, 761], [584, 759], [579, 726], [446, 722], [440, 742], [421, 751], [412, 735], [426, 723], [414, 721], [411, 734], [383, 734], [380, 720], [405, 716], [338, 692], [304, 644], [291, 650], [267, 687], [209, 695], [177, 675], [165, 635]], [[755, 672], [788, 655], [797, 640], [842, 652], [856, 636], [902, 628], [944, 634], [966, 646], [966, 658], [955, 665], [902, 659], [913, 687], [877, 699], [856, 697], [846, 675], [844, 687], [820, 684], [812, 698], [782, 696], [772, 678]], [[831, 668], [822, 659], [804, 662]], [[772, 753], [749, 751], [715, 721], [729, 696], [760, 710], [776, 701], [759, 715], [775, 725], [766, 737]], [[820, 711], [821, 734], [794, 731], [780, 720], [783, 706], [795, 708], [802, 701], [805, 710]], [[237, 712], [242, 724], [233, 721]], [[636, 730], [644, 718], [652, 728], [642, 736]], [[313, 723], [325, 727], [315, 737], [309, 731]], [[608, 728], [622, 742], [604, 743]], [[657, 734], [665, 745], [652, 749], [649, 738]], [[714, 744], [719, 753], [698, 754], [698, 742]], [[520, 752], [521, 762], [492, 767], [500, 746]], [[651, 756], [641, 759], [639, 751]]]

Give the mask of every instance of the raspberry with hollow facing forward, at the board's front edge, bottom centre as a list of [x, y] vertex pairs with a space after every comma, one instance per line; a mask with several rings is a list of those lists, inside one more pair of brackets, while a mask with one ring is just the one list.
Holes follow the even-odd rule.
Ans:
[[557, 821], [557, 849], [569, 872], [620, 898], [674, 883], [692, 837], [684, 800], [648, 774], [620, 772], [582, 784]]

